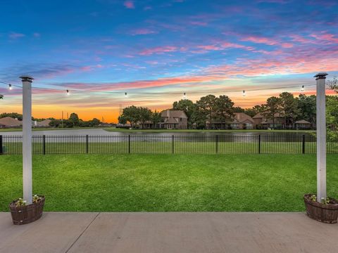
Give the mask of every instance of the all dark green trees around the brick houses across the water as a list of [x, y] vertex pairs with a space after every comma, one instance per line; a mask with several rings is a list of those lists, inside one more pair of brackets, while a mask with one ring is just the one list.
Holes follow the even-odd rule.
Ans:
[[[332, 98], [327, 98], [331, 99]], [[293, 126], [299, 119], [305, 119], [315, 126], [316, 115], [315, 95], [299, 95], [295, 97], [292, 93], [283, 92], [279, 96], [268, 98], [265, 103], [255, 105], [252, 108], [241, 108], [234, 106], [234, 102], [228, 96], [208, 95], [199, 98], [195, 103], [189, 99], [175, 101], [169, 110], [182, 110], [188, 117], [188, 127], [206, 129], [206, 122], [227, 123], [234, 119], [235, 112], [244, 112], [251, 117], [261, 113], [266, 119], [270, 119], [275, 128], [276, 117], [283, 118], [282, 128]], [[154, 126], [161, 122], [161, 113], [152, 112], [149, 108], [136, 107], [134, 105], [123, 109], [122, 115], [118, 117], [120, 124], [129, 122], [132, 127], [139, 122], [144, 127], [145, 122], [152, 122]]]

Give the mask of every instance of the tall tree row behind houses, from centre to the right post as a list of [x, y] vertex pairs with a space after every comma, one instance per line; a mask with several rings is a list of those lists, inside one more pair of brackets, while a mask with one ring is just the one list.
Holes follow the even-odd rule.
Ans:
[[235, 107], [228, 96], [208, 95], [193, 103], [192, 100], [180, 100], [173, 103], [174, 110], [184, 110], [188, 116], [190, 125], [196, 123], [196, 128], [206, 128], [208, 122], [229, 122], [235, 112], [244, 112], [253, 117], [261, 113], [266, 119], [270, 119], [275, 127], [276, 117], [283, 117], [282, 128], [293, 125], [299, 119], [305, 119], [313, 126], [315, 124], [316, 101], [315, 96], [299, 95], [294, 97], [292, 93], [283, 92], [279, 96], [272, 96], [261, 105], [252, 108]]

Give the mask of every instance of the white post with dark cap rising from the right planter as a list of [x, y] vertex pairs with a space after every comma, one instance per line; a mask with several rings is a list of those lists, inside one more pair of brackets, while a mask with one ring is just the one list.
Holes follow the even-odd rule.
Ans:
[[325, 79], [327, 73], [318, 73], [317, 81], [317, 201], [326, 200], [326, 122]]

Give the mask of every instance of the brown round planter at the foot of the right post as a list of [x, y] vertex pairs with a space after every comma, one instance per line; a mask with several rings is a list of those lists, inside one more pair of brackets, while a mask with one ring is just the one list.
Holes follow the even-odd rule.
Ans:
[[324, 223], [337, 223], [338, 218], [338, 202], [334, 198], [330, 199], [330, 204], [322, 204], [311, 200], [313, 194], [304, 195], [304, 203], [306, 214], [316, 221]]

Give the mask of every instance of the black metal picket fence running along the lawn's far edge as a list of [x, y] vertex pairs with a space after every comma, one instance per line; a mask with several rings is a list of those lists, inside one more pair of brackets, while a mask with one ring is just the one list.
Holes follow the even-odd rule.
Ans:
[[[22, 136], [0, 136], [0, 155], [20, 155]], [[314, 154], [310, 135], [32, 136], [32, 153], [46, 154]], [[338, 143], [327, 142], [337, 154]]]

